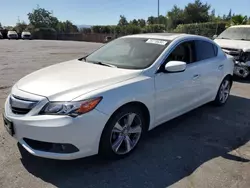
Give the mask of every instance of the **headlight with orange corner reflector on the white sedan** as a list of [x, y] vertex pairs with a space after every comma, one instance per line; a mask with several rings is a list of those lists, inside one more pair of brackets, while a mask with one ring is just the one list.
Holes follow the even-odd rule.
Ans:
[[102, 97], [76, 102], [49, 102], [39, 114], [69, 115], [76, 117], [93, 110], [101, 100]]

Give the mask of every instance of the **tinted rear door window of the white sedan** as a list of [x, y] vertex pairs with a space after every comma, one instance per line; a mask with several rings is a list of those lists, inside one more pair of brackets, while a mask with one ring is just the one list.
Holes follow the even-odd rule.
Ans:
[[196, 40], [195, 49], [196, 49], [196, 61], [202, 61], [217, 56], [218, 49], [214, 44], [210, 42]]

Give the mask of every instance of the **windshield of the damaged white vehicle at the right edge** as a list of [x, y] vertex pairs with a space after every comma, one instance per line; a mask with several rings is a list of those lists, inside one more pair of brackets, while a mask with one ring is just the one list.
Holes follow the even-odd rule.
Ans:
[[250, 40], [250, 27], [230, 27], [223, 31], [218, 39]]

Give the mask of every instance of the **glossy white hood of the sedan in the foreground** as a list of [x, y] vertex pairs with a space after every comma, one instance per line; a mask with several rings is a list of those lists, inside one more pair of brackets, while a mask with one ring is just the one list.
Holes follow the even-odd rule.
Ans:
[[35, 71], [19, 80], [16, 86], [51, 101], [70, 101], [93, 90], [134, 78], [140, 72], [72, 60]]

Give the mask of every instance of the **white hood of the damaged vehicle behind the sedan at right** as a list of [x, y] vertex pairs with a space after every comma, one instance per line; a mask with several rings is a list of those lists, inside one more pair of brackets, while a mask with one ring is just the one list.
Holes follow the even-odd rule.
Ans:
[[243, 51], [250, 50], [250, 41], [215, 39], [214, 42], [216, 42], [221, 48], [232, 48]]

